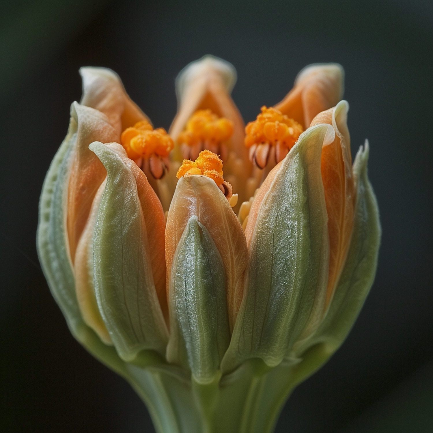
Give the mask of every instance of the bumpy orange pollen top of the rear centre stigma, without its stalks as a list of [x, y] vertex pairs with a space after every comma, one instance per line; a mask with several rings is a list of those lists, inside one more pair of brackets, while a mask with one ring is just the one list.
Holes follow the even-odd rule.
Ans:
[[233, 122], [225, 117], [218, 117], [211, 110], [197, 110], [188, 120], [185, 129], [178, 138], [179, 144], [189, 146], [200, 142], [219, 143], [233, 135]]

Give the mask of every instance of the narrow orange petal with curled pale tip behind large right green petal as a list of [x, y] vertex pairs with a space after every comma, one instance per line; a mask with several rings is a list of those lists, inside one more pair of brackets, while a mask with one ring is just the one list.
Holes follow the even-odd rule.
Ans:
[[347, 129], [349, 104], [340, 101], [336, 107], [318, 114], [311, 126], [328, 123], [335, 129], [335, 140], [323, 146], [321, 172], [328, 213], [330, 242], [329, 280], [326, 306], [333, 295], [349, 249], [352, 236], [355, 190], [350, 155], [350, 136]]

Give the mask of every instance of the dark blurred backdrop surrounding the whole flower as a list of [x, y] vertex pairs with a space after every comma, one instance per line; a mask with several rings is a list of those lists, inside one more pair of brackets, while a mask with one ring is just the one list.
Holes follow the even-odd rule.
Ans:
[[0, 430], [152, 432], [123, 379], [71, 337], [35, 248], [45, 172], [81, 97], [78, 68], [112, 68], [155, 126], [204, 54], [235, 65], [244, 119], [314, 62], [346, 71], [352, 152], [368, 138], [381, 211], [378, 273], [342, 348], [299, 386], [277, 432], [432, 432], [430, 0], [5, 1], [0, 5]]

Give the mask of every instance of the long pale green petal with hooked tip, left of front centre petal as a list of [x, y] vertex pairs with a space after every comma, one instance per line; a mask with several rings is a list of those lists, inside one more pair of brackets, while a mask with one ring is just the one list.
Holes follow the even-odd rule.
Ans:
[[[90, 149], [107, 169], [93, 240], [94, 285], [101, 315], [122, 359], [132, 361], [143, 349], [163, 354], [168, 332], [155, 289], [149, 245], [161, 230], [147, 229], [141, 200], [146, 199], [144, 213], [159, 213], [163, 222], [161, 204], [159, 209], [155, 206], [158, 198], [150, 185], [139, 193], [132, 168], [135, 163], [122, 146], [94, 142]], [[154, 223], [158, 223], [157, 217]], [[163, 245], [162, 239], [159, 241]], [[163, 258], [159, 261], [163, 266]]]

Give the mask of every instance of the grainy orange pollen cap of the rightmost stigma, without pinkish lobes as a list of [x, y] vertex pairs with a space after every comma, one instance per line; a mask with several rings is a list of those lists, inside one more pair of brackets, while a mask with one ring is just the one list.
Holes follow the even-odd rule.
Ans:
[[250, 148], [259, 144], [280, 144], [290, 150], [302, 132], [302, 126], [296, 120], [275, 108], [263, 106], [257, 120], [245, 127], [245, 145]]

